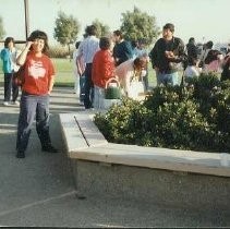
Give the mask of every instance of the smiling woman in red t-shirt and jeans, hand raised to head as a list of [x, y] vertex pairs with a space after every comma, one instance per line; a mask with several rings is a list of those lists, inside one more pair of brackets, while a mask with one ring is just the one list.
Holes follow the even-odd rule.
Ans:
[[16, 59], [16, 63], [24, 68], [17, 124], [17, 158], [25, 157], [34, 119], [36, 119], [36, 131], [41, 143], [41, 150], [58, 153], [58, 149], [51, 145], [49, 134], [49, 97], [55, 82], [55, 67], [47, 51], [47, 34], [34, 31]]

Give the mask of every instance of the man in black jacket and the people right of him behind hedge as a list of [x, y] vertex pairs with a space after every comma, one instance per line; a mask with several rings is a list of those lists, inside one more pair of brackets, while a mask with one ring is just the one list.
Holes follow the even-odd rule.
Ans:
[[162, 38], [158, 39], [150, 51], [150, 60], [156, 71], [157, 85], [179, 84], [179, 71], [183, 71], [184, 81], [199, 76], [201, 73], [221, 73], [220, 80], [230, 80], [230, 52], [223, 55], [213, 49], [211, 40], [204, 44], [202, 53], [191, 37], [186, 46], [174, 37], [174, 25], [167, 23], [162, 28]]

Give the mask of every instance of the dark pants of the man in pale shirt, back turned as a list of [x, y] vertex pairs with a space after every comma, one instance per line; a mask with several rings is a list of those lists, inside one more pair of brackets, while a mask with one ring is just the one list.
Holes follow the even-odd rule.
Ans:
[[94, 100], [94, 84], [92, 81], [92, 63], [86, 63], [85, 68], [85, 96], [84, 106], [86, 109], [93, 107]]

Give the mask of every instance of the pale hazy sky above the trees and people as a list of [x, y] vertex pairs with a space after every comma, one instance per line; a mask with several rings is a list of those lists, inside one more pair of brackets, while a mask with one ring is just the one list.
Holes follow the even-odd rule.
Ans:
[[[95, 19], [112, 32], [121, 25], [121, 13], [133, 11], [134, 5], [155, 16], [160, 28], [173, 23], [174, 36], [184, 43], [190, 37], [196, 41], [230, 43], [230, 0], [28, 0], [29, 32], [45, 31], [55, 43], [53, 27], [60, 10], [78, 20], [82, 33]], [[25, 39], [24, 0], [0, 0], [0, 16], [5, 37]]]

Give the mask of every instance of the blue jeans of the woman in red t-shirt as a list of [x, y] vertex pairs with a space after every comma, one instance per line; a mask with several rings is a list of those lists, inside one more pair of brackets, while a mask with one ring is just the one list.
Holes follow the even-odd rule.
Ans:
[[35, 118], [36, 131], [41, 146], [51, 144], [49, 135], [49, 95], [37, 96], [22, 93], [17, 123], [17, 150], [26, 150]]

